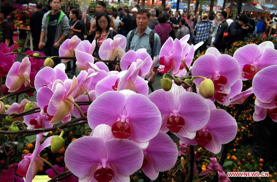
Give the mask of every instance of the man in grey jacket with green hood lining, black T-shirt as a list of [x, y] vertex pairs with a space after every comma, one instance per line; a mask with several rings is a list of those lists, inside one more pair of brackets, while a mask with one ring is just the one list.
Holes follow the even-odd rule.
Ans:
[[[61, 1], [51, 0], [52, 11], [44, 14], [42, 18], [41, 34], [38, 48], [46, 56], [58, 56], [59, 47], [69, 34], [69, 21], [66, 14], [60, 10]], [[54, 66], [61, 63], [60, 59], [53, 59]]]

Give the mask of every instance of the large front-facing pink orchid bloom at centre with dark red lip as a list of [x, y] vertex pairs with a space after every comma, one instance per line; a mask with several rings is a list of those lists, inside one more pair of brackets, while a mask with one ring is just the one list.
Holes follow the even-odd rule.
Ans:
[[159, 109], [146, 96], [130, 90], [103, 93], [90, 105], [87, 118], [91, 129], [106, 124], [116, 138], [138, 142], [152, 139], [161, 127]]

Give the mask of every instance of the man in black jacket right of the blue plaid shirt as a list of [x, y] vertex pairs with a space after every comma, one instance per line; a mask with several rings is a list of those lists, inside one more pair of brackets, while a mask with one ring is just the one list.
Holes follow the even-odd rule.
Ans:
[[219, 24], [219, 27], [216, 31], [215, 41], [212, 47], [215, 47], [219, 50], [219, 52], [225, 51], [225, 45], [223, 44], [223, 34], [228, 29], [228, 23], [226, 22], [227, 19], [227, 12], [221, 11], [221, 13], [218, 16], [218, 19], [221, 21]]

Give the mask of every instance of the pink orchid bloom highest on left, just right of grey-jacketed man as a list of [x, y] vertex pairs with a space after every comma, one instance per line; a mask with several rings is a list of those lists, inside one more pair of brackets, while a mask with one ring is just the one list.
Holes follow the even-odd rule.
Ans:
[[[74, 49], [77, 48], [78, 44], [81, 42], [81, 39], [74, 35], [72, 38], [66, 39], [59, 48], [59, 56], [73, 57]], [[68, 62], [70, 59], [63, 59], [62, 62]]]

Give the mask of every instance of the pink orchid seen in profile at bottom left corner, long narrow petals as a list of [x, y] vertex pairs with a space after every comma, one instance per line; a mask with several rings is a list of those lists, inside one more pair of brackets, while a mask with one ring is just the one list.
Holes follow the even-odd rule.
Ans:
[[54, 136], [50, 136], [40, 145], [42, 134], [37, 134], [35, 149], [32, 154], [22, 155], [22, 160], [18, 163], [16, 174], [26, 177], [26, 182], [31, 182], [38, 172], [38, 169], [43, 166], [43, 161], [39, 159], [39, 153], [46, 147], [50, 146]]

